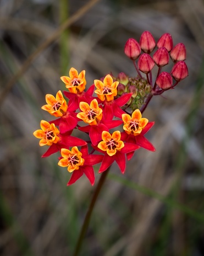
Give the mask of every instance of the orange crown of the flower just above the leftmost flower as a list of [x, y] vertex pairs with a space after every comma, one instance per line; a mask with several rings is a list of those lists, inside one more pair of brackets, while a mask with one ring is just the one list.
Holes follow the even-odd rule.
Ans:
[[47, 104], [42, 106], [43, 110], [56, 117], [63, 116], [66, 113], [68, 108], [67, 102], [60, 90], [57, 92], [56, 98], [52, 94], [46, 94], [45, 99]]

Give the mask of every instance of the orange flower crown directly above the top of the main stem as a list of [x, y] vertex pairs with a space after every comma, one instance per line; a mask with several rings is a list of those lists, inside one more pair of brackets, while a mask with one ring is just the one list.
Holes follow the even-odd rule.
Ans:
[[107, 131], [103, 131], [102, 140], [103, 141], [98, 143], [98, 148], [102, 151], [106, 151], [108, 156], [113, 156], [124, 147], [124, 142], [120, 140], [119, 131], [114, 131], [112, 135]]

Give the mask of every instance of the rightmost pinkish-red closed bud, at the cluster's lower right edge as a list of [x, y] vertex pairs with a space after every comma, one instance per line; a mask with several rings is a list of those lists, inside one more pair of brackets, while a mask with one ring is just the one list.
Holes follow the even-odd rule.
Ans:
[[178, 61], [170, 72], [176, 81], [180, 81], [189, 75], [188, 67], [184, 61]]

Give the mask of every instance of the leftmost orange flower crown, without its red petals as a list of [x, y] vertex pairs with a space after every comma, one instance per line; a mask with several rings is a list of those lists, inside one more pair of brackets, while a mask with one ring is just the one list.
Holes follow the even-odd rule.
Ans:
[[59, 141], [59, 130], [55, 127], [54, 124], [49, 124], [45, 120], [41, 120], [40, 127], [42, 130], [34, 131], [34, 136], [36, 138], [41, 138], [39, 145], [40, 146], [51, 146], [52, 143], [57, 143]]

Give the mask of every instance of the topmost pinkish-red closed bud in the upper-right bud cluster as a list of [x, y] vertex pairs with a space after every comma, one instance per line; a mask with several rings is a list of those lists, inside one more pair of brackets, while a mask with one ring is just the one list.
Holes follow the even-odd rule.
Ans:
[[156, 42], [149, 31], [144, 31], [140, 37], [140, 47], [146, 54], [150, 54], [155, 49]]

